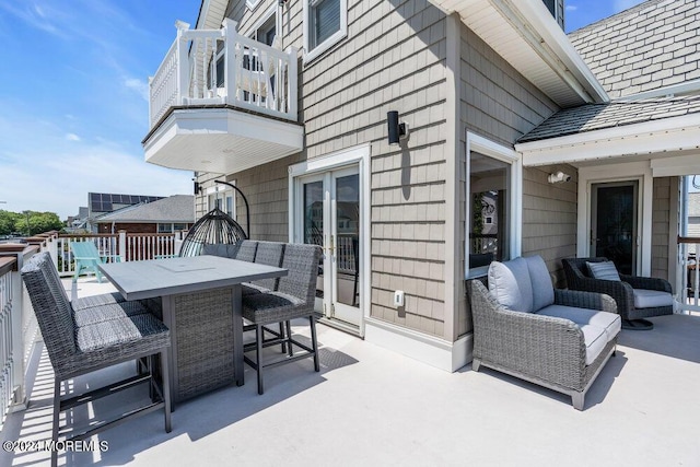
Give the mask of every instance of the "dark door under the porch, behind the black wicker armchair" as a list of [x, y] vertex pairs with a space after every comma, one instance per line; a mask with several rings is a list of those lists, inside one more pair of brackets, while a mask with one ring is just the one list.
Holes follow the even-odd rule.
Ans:
[[637, 182], [593, 186], [593, 252], [625, 275], [635, 271], [637, 186]]

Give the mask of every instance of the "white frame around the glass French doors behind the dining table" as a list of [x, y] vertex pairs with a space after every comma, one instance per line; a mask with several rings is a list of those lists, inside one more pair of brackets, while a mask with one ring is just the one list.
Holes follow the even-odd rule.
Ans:
[[289, 242], [299, 243], [299, 192], [295, 180], [299, 177], [320, 174], [335, 168], [358, 164], [360, 175], [360, 336], [364, 336], [364, 318], [370, 316], [371, 303], [371, 255], [370, 255], [370, 156], [372, 147], [361, 144], [337, 151], [322, 157], [300, 162], [289, 167]]

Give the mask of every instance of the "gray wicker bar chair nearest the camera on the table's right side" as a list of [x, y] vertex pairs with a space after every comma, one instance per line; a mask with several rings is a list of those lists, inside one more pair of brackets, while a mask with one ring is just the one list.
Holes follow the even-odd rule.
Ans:
[[[258, 255], [260, 254], [258, 246]], [[243, 297], [243, 317], [255, 326], [255, 342], [246, 345], [245, 350], [255, 350], [255, 360], [245, 357], [246, 363], [257, 371], [258, 394], [264, 393], [262, 370], [284, 363], [291, 363], [308, 357], [314, 358], [314, 370], [319, 371], [318, 343], [316, 341], [316, 316], [314, 300], [316, 295], [316, 277], [320, 248], [316, 245], [287, 244], [282, 268], [289, 270], [288, 276], [280, 278], [277, 289]], [[311, 326], [311, 347], [298, 341], [291, 332], [290, 320], [308, 318]], [[275, 323], [284, 323], [287, 332], [276, 339], [264, 339], [262, 327]], [[271, 362], [262, 362], [262, 348], [287, 345], [287, 355]], [[294, 346], [303, 350], [294, 354]], [[283, 351], [284, 352], [284, 351]]]

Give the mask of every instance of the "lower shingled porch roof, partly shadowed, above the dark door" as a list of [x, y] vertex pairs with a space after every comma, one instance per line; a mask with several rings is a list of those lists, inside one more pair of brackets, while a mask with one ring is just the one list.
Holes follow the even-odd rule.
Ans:
[[588, 104], [557, 112], [517, 142], [544, 140], [697, 113], [700, 113], [700, 96]]

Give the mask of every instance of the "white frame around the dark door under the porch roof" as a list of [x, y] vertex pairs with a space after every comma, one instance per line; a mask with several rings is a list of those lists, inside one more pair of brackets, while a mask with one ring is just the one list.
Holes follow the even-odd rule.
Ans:
[[652, 271], [652, 208], [654, 178], [649, 162], [602, 164], [579, 168], [579, 215], [576, 229], [576, 256], [590, 257], [591, 214], [593, 210], [592, 185], [638, 180], [637, 206], [637, 275], [651, 276]]

